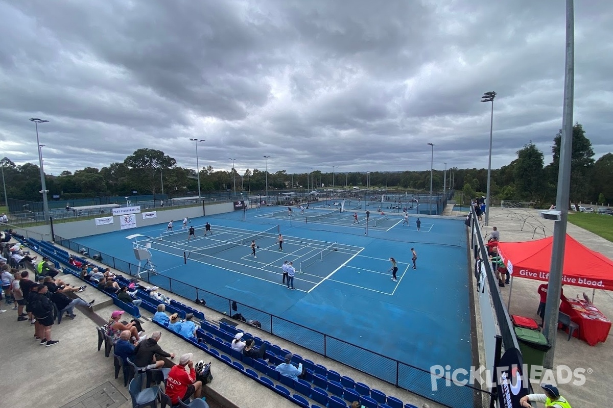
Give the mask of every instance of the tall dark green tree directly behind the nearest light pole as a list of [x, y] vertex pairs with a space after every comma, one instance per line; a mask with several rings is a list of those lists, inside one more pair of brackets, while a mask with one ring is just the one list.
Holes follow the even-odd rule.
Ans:
[[[549, 176], [552, 184], [558, 181], [558, 169], [560, 168], [560, 141], [562, 129], [555, 135], [554, 146], [551, 148], [554, 160], [550, 165]], [[585, 130], [581, 124], [573, 126], [573, 152], [571, 154], [571, 188], [570, 199], [572, 202], [588, 201], [590, 197], [590, 176], [594, 166], [594, 150], [590, 139], [585, 137]]]

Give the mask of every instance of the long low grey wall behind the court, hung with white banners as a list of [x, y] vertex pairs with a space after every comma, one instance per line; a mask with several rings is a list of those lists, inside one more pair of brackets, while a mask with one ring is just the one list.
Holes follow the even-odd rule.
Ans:
[[[143, 226], [151, 226], [155, 224], [167, 223], [170, 220], [177, 221], [178, 224], [181, 223], [183, 218], [197, 218], [202, 217], [203, 215], [215, 215], [226, 212], [234, 211], [234, 204], [232, 202], [223, 202], [219, 204], [208, 204], [204, 208], [204, 214], [202, 207], [189, 207], [182, 208], [176, 210], [164, 210], [158, 211], [156, 218], [147, 218], [143, 220], [141, 213], [136, 214], [136, 225], [137, 227]], [[120, 226], [120, 216], [113, 217], [113, 223], [107, 225], [99, 225], [96, 226], [96, 220], [83, 220], [83, 221], [74, 221], [70, 223], [56, 223], [53, 224], [53, 233], [56, 236], [72, 239], [75, 237], [85, 237], [92, 236], [97, 234], [105, 234], [107, 232], [119, 231], [121, 229]], [[42, 239], [45, 241], [51, 240], [50, 228], [48, 225], [40, 225], [36, 227], [28, 228], [27, 231], [21, 228], [17, 229], [18, 234], [23, 236], [31, 236], [36, 239]], [[34, 236], [34, 234], [40, 234], [40, 237]]]

